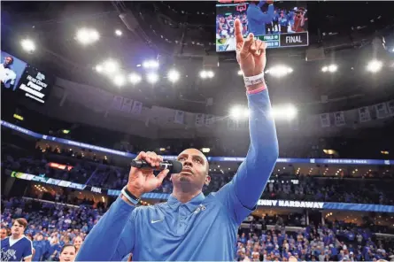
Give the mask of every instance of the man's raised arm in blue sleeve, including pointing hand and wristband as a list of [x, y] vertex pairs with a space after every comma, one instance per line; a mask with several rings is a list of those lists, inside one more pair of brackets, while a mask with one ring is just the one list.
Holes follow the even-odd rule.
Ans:
[[241, 23], [236, 19], [236, 59], [243, 72], [249, 104], [251, 145], [232, 181], [219, 190], [218, 199], [228, 207], [237, 223], [249, 215], [259, 201], [278, 158], [278, 139], [271, 113], [264, 68], [265, 42], [252, 34], [243, 40]]

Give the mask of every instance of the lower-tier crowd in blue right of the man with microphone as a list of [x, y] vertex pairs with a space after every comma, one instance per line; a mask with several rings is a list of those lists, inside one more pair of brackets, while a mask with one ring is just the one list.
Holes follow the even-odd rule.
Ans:
[[238, 261], [376, 261], [394, 258], [392, 241], [373, 240], [369, 230], [336, 221], [307, 226], [298, 232], [285, 229], [240, 230]]

